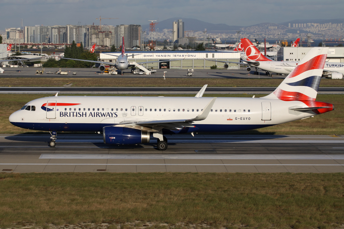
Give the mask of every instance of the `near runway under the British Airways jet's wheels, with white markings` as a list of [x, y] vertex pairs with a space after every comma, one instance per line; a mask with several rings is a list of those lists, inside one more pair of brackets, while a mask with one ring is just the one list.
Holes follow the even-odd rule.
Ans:
[[344, 172], [344, 136], [166, 135], [168, 149], [112, 146], [99, 134], [1, 134], [0, 172]]

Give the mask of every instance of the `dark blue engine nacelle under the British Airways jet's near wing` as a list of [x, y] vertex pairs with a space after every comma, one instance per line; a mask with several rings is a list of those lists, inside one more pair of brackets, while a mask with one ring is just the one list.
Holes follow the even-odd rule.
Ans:
[[105, 144], [141, 144], [148, 143], [150, 133], [147, 131], [126, 127], [104, 127], [103, 139]]

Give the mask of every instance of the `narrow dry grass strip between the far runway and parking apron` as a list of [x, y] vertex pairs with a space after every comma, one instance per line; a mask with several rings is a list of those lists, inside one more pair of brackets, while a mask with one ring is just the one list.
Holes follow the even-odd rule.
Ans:
[[[1, 78], [1, 87], [58, 87], [72, 81], [73, 87], [277, 87], [282, 79], [205, 78]], [[320, 87], [344, 87], [344, 80], [322, 79]]]

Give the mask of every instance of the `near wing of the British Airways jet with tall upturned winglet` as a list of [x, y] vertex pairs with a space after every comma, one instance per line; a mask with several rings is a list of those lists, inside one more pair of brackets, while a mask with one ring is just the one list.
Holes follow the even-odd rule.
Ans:
[[195, 127], [193, 123], [194, 121], [202, 121], [208, 117], [208, 114], [213, 107], [215, 100], [217, 97], [212, 98], [211, 101], [201, 110], [201, 112], [193, 119], [171, 119], [171, 120], [153, 120], [153, 121], [138, 121], [138, 122], [131, 122], [131, 123], [119, 123], [115, 126], [123, 126], [123, 127], [131, 127], [132, 126], [141, 126], [147, 127], [152, 130], [161, 130], [161, 129], [168, 129], [168, 130], [178, 130], [183, 129], [184, 127]]

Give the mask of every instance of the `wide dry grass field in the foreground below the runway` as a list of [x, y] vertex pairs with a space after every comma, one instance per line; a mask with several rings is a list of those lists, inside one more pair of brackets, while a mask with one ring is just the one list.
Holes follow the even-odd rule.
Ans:
[[0, 227], [117, 222], [120, 228], [135, 228], [129, 223], [135, 220], [158, 222], [151, 228], [167, 228], [159, 222], [210, 228], [331, 228], [344, 223], [340, 173], [0, 176]]

